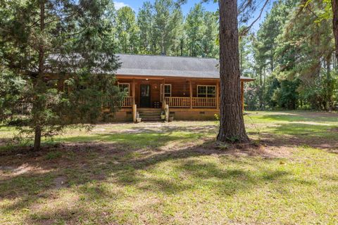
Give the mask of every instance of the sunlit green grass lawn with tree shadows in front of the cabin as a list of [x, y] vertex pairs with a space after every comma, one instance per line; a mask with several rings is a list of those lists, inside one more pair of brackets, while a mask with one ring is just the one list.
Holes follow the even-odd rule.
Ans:
[[119, 123], [27, 154], [1, 128], [0, 224], [338, 224], [338, 114], [245, 120], [247, 145], [212, 121]]

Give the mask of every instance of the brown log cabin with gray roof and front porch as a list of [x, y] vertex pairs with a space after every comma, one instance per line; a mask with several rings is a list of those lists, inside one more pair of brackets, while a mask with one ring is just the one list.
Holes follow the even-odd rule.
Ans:
[[[219, 113], [218, 60], [173, 56], [119, 54], [118, 86], [127, 91], [116, 121], [159, 120], [161, 113], [175, 120], [212, 120]], [[241, 77], [242, 105], [244, 82]]]

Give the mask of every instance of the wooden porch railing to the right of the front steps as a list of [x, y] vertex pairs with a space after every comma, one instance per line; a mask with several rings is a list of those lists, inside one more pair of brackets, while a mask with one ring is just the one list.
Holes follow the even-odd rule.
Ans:
[[[189, 108], [189, 97], [165, 97], [165, 102], [171, 108]], [[216, 108], [216, 98], [192, 98], [192, 108]]]

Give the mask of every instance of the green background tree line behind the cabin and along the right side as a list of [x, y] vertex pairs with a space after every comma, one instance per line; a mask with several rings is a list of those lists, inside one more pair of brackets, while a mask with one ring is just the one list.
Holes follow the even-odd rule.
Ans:
[[[117, 52], [219, 58], [218, 13], [203, 4], [186, 16], [172, 0], [113, 15]], [[275, 1], [257, 32], [240, 33], [241, 73], [256, 78], [246, 86], [246, 109], [337, 109], [330, 1]]]

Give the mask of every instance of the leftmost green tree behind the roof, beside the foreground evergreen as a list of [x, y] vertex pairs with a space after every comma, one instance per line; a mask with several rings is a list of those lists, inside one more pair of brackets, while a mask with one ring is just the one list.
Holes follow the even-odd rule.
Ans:
[[139, 27], [136, 23], [135, 13], [129, 6], [124, 6], [117, 11], [116, 32], [120, 53], [137, 53]]

